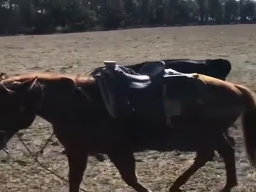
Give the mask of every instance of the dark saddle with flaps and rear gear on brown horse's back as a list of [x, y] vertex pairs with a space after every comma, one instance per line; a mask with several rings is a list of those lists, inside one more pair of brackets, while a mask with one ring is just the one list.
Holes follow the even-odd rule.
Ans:
[[[138, 73], [128, 67], [105, 61], [105, 67], [94, 76], [106, 109], [113, 118], [155, 118], [160, 114], [170, 124], [170, 117], [180, 115], [180, 85], [193, 84], [197, 74], [165, 69], [163, 61], [144, 65]], [[194, 80], [193, 83], [191, 83]], [[195, 86], [194, 86], [195, 87]]]

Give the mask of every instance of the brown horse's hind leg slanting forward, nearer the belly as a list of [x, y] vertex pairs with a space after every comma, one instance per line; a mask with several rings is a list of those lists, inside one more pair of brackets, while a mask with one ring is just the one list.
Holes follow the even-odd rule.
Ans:
[[189, 167], [180, 177], [178, 177], [173, 185], [170, 187], [169, 192], [181, 192], [180, 186], [184, 185], [187, 180], [202, 166], [211, 160], [214, 156], [214, 151], [197, 151], [195, 161], [192, 166]]

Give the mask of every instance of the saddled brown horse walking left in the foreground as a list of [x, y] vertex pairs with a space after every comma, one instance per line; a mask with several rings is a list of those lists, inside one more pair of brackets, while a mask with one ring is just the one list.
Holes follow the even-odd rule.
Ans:
[[186, 108], [175, 128], [169, 128], [157, 121], [111, 119], [91, 76], [43, 73], [9, 77], [0, 82], [0, 147], [38, 115], [52, 123], [67, 151], [70, 192], [79, 192], [90, 153], [107, 154], [129, 186], [149, 192], [135, 171], [134, 152], [145, 149], [196, 151], [195, 162], [177, 178], [170, 192], [181, 191], [180, 186], [218, 151], [227, 172], [221, 191], [230, 192], [237, 185], [236, 165], [224, 132], [242, 115], [246, 151], [256, 167], [256, 100], [244, 86], [204, 75], [199, 78], [204, 82], [203, 103]]

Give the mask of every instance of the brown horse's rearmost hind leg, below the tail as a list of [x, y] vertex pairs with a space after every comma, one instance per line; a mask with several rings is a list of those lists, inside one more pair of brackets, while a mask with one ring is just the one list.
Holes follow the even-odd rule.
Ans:
[[217, 151], [224, 160], [227, 174], [226, 185], [221, 192], [230, 192], [233, 187], [237, 186], [235, 151], [225, 137], [221, 137], [220, 141], [221, 145], [218, 146]]

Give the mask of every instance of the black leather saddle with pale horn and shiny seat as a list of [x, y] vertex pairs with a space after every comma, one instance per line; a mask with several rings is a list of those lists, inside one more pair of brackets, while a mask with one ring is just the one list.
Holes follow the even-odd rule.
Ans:
[[115, 61], [105, 61], [104, 64], [105, 68], [94, 77], [113, 118], [126, 118], [136, 111], [140, 114], [164, 111], [163, 87], [171, 81], [194, 78], [191, 74], [165, 69], [163, 61], [144, 65], [138, 73]]

